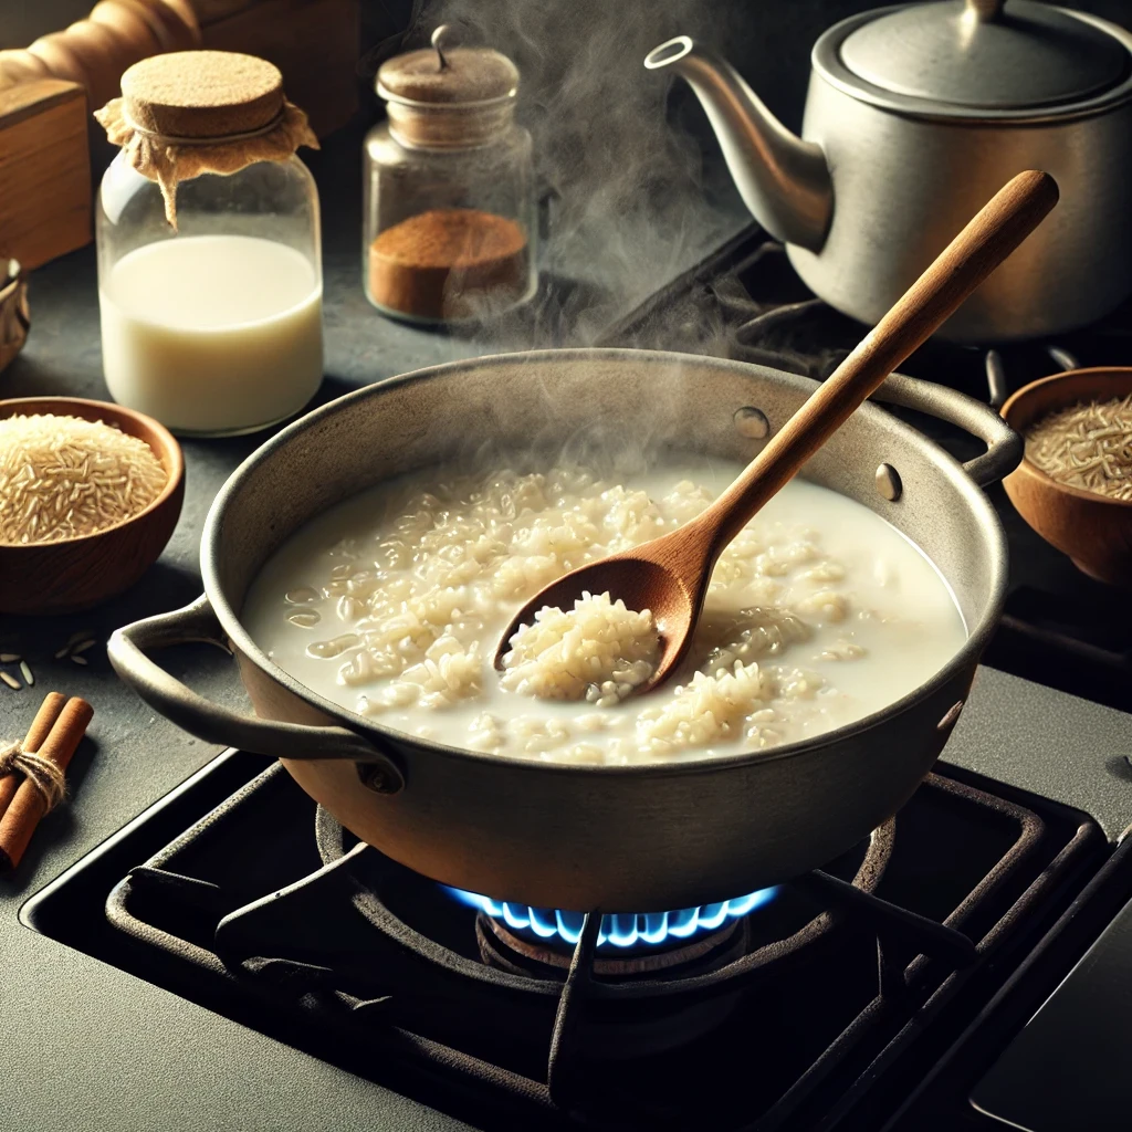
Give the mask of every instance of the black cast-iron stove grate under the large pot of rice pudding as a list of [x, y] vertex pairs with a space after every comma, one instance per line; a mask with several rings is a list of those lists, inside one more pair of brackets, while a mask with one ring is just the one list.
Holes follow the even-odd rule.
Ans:
[[[591, 1054], [600, 1043], [595, 1046], [593, 1035], [600, 1035], [611, 1017], [627, 1012], [636, 1019], [637, 1029], [655, 1028], [666, 1014], [683, 1018], [685, 1026], [691, 1015], [681, 1011], [703, 1012], [713, 1002], [731, 1001], [745, 1004], [734, 1011], [741, 1014], [751, 1009], [744, 996], [773, 985], [782, 971], [801, 963], [811, 954], [808, 944], [825, 937], [843, 944], [847, 932], [871, 935], [877, 957], [871, 1001], [792, 1084], [779, 1089], [780, 1096], [762, 1107], [756, 1104], [751, 1121], [724, 1125], [758, 1132], [806, 1126], [796, 1122], [803, 1120], [807, 1106], [825, 1096], [831, 1081], [847, 1074], [852, 1080], [852, 1066], [859, 1065], [863, 1049], [875, 1044], [875, 1035], [886, 1029], [915, 1032], [927, 1024], [968, 975], [1010, 936], [1023, 909], [1040, 901], [1061, 875], [1056, 867], [1038, 867], [1030, 878], [1036, 865], [1041, 865], [1038, 847], [1047, 832], [1036, 813], [951, 778], [932, 775], [921, 792], [927, 791], [933, 801], [976, 806], [1011, 831], [1004, 835], [1005, 851], [996, 864], [942, 921], [865, 891], [880, 884], [899, 840], [889, 827], [874, 838], [880, 841], [883, 865], [874, 849], [874, 859], [861, 861], [847, 877], [821, 872], [788, 883], [801, 899], [824, 907], [796, 933], [797, 938], [756, 946], [718, 970], [615, 980], [602, 977], [595, 967], [600, 917], [591, 915], [563, 983], [494, 970], [411, 928], [374, 891], [375, 866], [384, 858], [368, 847], [349, 848], [341, 826], [324, 812], [318, 813], [316, 825], [327, 863], [308, 877], [248, 901], [247, 893], [231, 891], [225, 881], [191, 875], [189, 865], [201, 842], [233, 818], [238, 822], [241, 809], [263, 806], [266, 795], [286, 788], [295, 790], [278, 767], [269, 769], [166, 849], [132, 868], [108, 900], [113, 925], [147, 952], [158, 949], [218, 977], [229, 993], [252, 996], [260, 1010], [282, 1012], [292, 1021], [302, 1019], [303, 1028], [315, 1027], [337, 1039], [352, 1035], [352, 1043], [363, 1040], [368, 1048], [410, 1058], [429, 1072], [441, 1073], [453, 1087], [495, 1097], [499, 1104], [533, 1105], [533, 1110], [548, 1118], [557, 1114], [589, 1126], [616, 1125], [626, 1113], [637, 1112], [648, 1113], [658, 1129], [678, 1127], [688, 1115], [669, 1112], [663, 1104], [651, 1105], [625, 1083], [628, 1078], [623, 1070], [610, 1073], [599, 1066], [595, 1071]], [[1086, 832], [1079, 831], [1079, 837], [1088, 840]], [[1065, 860], [1072, 858], [1065, 850]], [[303, 903], [312, 894], [317, 901]], [[446, 894], [438, 899], [446, 909], [453, 907]], [[314, 915], [316, 908], [324, 909], [324, 915]], [[325, 914], [327, 908], [345, 909], [355, 927], [363, 925], [362, 962], [345, 942], [331, 954], [318, 955], [309, 946], [307, 928], [324, 947], [327, 935], [337, 938], [338, 920]], [[280, 946], [267, 949], [267, 941]], [[264, 954], [265, 950], [272, 953]], [[384, 969], [363, 970], [383, 966], [375, 962], [378, 955]], [[771, 984], [765, 981], [769, 971], [779, 972]], [[658, 1010], [658, 1003], [662, 1009]], [[456, 1007], [483, 1017], [491, 1004], [495, 1013], [504, 1012], [520, 1031], [516, 1044], [530, 1045], [531, 1035], [539, 1032], [549, 1035], [549, 1041], [542, 1039], [547, 1044], [541, 1067], [530, 1052], [525, 1061], [515, 1056], [506, 1041], [497, 1046], [481, 1041], [479, 1048], [461, 1041], [452, 1027]], [[624, 1035], [612, 1044], [617, 1041], [624, 1044]]]

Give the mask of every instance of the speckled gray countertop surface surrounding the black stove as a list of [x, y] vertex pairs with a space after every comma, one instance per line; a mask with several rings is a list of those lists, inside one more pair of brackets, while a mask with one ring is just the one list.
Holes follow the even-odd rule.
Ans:
[[[320, 398], [490, 349], [398, 326], [370, 309], [359, 285], [353, 149], [341, 143], [312, 164], [323, 183], [326, 217], [329, 376]], [[735, 215], [720, 217], [712, 235], [727, 234], [737, 221]], [[705, 242], [703, 251], [709, 247]], [[32, 336], [24, 354], [0, 376], [0, 395], [105, 398], [93, 249], [36, 272], [31, 301]], [[95, 707], [88, 739], [69, 775], [70, 801], [42, 823], [15, 876], [0, 882], [0, 1001], [9, 1038], [0, 1071], [3, 1132], [462, 1126], [37, 935], [18, 920], [19, 906], [31, 893], [217, 753], [155, 717], [125, 688], [102, 642], [126, 621], [197, 595], [197, 546], [207, 507], [263, 438], [186, 443], [187, 494], [177, 532], [160, 563], [123, 598], [76, 617], [7, 618], [0, 624], [0, 648], [26, 655], [37, 678], [33, 689], [9, 694], [0, 688], [0, 736], [22, 735], [49, 689], [85, 696]], [[89, 666], [52, 660], [80, 628], [100, 640], [87, 653]], [[207, 694], [240, 701], [233, 674], [218, 653], [186, 648], [169, 660], [178, 675]], [[1132, 718], [981, 669], [945, 757], [1087, 809], [1115, 838], [1132, 822], [1127, 754]]]

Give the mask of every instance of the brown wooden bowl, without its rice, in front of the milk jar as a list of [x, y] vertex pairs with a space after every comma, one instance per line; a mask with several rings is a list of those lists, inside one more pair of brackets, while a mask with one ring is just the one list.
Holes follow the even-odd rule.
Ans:
[[0, 401], [0, 418], [55, 413], [115, 424], [153, 449], [169, 475], [161, 495], [132, 518], [60, 542], [0, 543], [0, 614], [70, 614], [128, 590], [169, 542], [185, 499], [185, 458], [170, 432], [143, 413], [76, 397]]

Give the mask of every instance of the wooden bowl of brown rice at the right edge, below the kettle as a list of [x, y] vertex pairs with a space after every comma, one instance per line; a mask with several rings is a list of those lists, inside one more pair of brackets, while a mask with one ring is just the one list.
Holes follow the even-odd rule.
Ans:
[[1019, 514], [1086, 574], [1132, 586], [1132, 367], [1041, 378], [1002, 415], [1026, 440], [1003, 481]]

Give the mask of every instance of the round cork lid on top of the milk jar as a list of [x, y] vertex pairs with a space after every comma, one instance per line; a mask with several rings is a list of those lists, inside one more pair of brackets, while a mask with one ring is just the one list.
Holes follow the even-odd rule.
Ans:
[[278, 120], [284, 102], [280, 69], [234, 51], [173, 51], [122, 75], [130, 122], [168, 138], [255, 134]]

